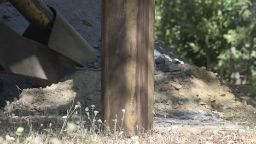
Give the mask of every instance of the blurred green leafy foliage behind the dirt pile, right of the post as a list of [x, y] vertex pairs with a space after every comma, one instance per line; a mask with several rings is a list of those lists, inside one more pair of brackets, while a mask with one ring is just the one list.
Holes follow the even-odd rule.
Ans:
[[[256, 0], [158, 0], [156, 38], [198, 66], [255, 79]], [[254, 83], [256, 85], [256, 83]]]

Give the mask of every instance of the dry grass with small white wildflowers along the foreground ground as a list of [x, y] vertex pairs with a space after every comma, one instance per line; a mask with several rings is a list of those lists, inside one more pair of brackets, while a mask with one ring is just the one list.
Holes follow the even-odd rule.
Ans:
[[[0, 114], [0, 143], [256, 143], [256, 127], [241, 131], [192, 132], [184, 125], [181, 129], [127, 137], [124, 129], [116, 125], [108, 129], [106, 135], [101, 131], [104, 122], [98, 119], [94, 106], [83, 111], [85, 116], [79, 103], [73, 104], [66, 116], [21, 117], [6, 111]], [[125, 116], [125, 110], [123, 113]]]

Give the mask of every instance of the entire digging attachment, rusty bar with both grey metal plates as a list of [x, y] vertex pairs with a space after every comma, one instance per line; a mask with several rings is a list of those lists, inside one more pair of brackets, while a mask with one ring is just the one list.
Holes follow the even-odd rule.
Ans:
[[[0, 0], [0, 2], [3, 2]], [[94, 49], [40, 0], [9, 0], [30, 22], [20, 36], [0, 22], [0, 70], [57, 82], [96, 57]]]

